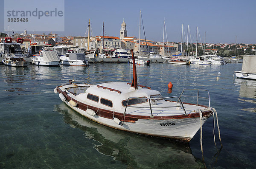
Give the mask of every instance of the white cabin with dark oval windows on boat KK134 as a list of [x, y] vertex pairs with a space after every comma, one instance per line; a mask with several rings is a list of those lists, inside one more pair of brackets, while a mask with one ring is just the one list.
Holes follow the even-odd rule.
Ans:
[[[114, 86], [114, 88], [113, 88]], [[150, 87], [141, 86], [138, 89], [131, 87], [126, 82], [102, 83], [99, 85], [88, 85], [70, 87], [67, 89], [70, 93], [77, 96], [88, 104], [108, 110], [123, 111], [129, 97], [137, 98], [161, 98], [157, 90], [151, 90]], [[84, 92], [85, 91], [85, 92]], [[128, 105], [148, 106], [148, 99], [129, 99]]]

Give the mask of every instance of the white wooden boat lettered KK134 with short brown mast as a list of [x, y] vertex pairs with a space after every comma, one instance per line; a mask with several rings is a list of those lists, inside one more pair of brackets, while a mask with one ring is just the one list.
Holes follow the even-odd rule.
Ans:
[[[132, 51], [132, 59], [134, 58]], [[89, 85], [70, 81], [54, 89], [69, 107], [81, 115], [118, 130], [189, 142], [201, 125], [212, 115], [209, 91], [208, 106], [197, 102], [183, 103], [180, 97], [163, 98], [157, 90], [137, 84], [136, 64], [133, 61], [133, 81]], [[200, 92], [199, 92], [200, 91]], [[200, 97], [204, 98], [204, 97]], [[172, 101], [175, 99], [176, 101]]]

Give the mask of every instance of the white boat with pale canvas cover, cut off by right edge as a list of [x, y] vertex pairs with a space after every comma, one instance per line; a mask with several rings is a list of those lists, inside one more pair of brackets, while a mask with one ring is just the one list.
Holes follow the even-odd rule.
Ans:
[[235, 71], [237, 78], [256, 80], [256, 55], [244, 56], [242, 70]]

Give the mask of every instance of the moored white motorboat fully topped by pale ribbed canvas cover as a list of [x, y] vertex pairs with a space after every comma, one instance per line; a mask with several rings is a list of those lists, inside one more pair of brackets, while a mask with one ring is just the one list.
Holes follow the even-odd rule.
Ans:
[[33, 63], [38, 66], [59, 66], [60, 58], [56, 51], [41, 51], [39, 56], [33, 57]]

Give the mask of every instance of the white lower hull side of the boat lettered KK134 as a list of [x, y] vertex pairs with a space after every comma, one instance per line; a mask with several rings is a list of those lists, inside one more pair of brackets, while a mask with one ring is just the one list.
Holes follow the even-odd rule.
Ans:
[[[189, 142], [200, 129], [199, 117], [173, 119], [138, 119], [134, 122], [123, 122], [122, 125], [119, 125], [116, 124], [111, 118], [105, 118], [99, 115], [92, 116], [89, 115], [85, 110], [81, 110], [79, 107], [70, 105], [68, 101], [65, 101], [65, 103], [79, 114], [99, 124], [103, 124], [114, 129], [134, 132], [142, 135], [150, 135], [154, 137], [170, 138], [183, 142]], [[97, 111], [97, 109], [95, 111]], [[202, 124], [204, 124], [207, 118], [208, 117], [204, 117], [202, 119]]]

